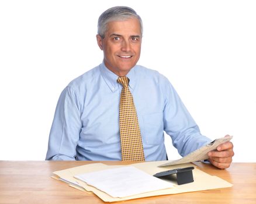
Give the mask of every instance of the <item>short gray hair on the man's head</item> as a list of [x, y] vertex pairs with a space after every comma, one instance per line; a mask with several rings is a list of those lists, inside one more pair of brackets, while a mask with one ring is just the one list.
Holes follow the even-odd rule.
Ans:
[[105, 10], [101, 16], [99, 16], [98, 20], [98, 34], [102, 38], [105, 37], [105, 33], [107, 30], [107, 26], [109, 22], [115, 20], [127, 20], [131, 18], [137, 18], [140, 21], [140, 31], [141, 36], [143, 33], [143, 24], [139, 15], [137, 15], [136, 11], [127, 6], [115, 6]]

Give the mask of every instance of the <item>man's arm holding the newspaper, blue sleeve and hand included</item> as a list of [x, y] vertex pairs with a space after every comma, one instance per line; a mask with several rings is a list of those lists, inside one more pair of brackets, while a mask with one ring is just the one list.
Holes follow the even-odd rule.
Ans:
[[[186, 156], [199, 147], [211, 142], [209, 138], [201, 135], [195, 121], [186, 110], [177, 92], [168, 82], [166, 86], [166, 103], [164, 110], [165, 132], [172, 138], [172, 144], [178, 149], [181, 156]], [[209, 161], [218, 168], [227, 168], [232, 162], [233, 143], [226, 142], [209, 154]]]

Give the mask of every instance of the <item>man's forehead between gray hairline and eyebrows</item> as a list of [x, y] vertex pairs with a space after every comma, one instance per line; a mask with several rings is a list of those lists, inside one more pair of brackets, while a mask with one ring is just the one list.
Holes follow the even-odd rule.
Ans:
[[136, 18], [126, 20], [113, 20], [108, 23], [107, 36], [116, 33], [120, 35], [137, 35], [141, 36], [140, 21]]

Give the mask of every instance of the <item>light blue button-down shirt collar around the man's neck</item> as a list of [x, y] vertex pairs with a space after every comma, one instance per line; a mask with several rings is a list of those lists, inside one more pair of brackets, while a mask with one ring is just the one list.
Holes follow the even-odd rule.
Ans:
[[[106, 84], [109, 86], [109, 89], [112, 92], [115, 92], [115, 90], [118, 87], [118, 83], [116, 80], [117, 78], [119, 78], [119, 76], [117, 76], [115, 73], [113, 73], [108, 68], [106, 68], [104, 62], [102, 62], [102, 64], [100, 65], [100, 69], [101, 69], [103, 79], [105, 80]], [[136, 84], [135, 69], [136, 69], [136, 65], [126, 75], [127, 78], [130, 79], [129, 86], [131, 89], [134, 89], [134, 86]]]

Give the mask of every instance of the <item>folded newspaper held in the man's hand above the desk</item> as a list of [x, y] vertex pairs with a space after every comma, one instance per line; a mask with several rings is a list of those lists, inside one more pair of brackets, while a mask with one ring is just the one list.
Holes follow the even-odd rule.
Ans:
[[199, 149], [195, 150], [194, 152], [191, 152], [190, 154], [186, 155], [185, 157], [182, 157], [181, 159], [169, 161], [168, 163], [161, 164], [158, 167], [166, 167], [166, 166], [172, 166], [176, 164], [190, 163], [193, 161], [206, 160], [209, 158], [209, 156], [207, 155], [208, 152], [216, 150], [217, 146], [225, 142], [229, 142], [232, 138], [233, 136], [226, 136], [224, 138], [213, 140], [209, 144], [200, 147]]

